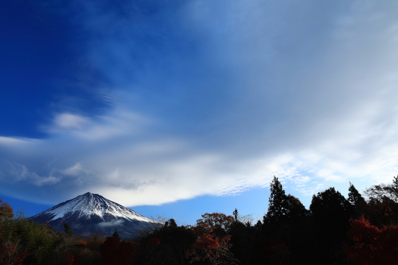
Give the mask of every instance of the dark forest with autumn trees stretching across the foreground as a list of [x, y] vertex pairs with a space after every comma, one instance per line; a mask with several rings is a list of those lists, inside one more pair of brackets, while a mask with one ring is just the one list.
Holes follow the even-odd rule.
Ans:
[[271, 182], [268, 211], [252, 223], [237, 209], [204, 213], [196, 225], [174, 219], [132, 240], [117, 231], [75, 235], [29, 221], [0, 200], [1, 265], [393, 265], [398, 264], [398, 177], [348, 198], [334, 187], [309, 209]]

